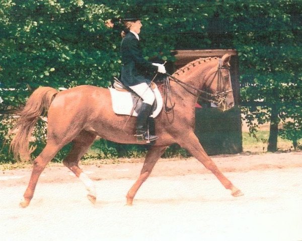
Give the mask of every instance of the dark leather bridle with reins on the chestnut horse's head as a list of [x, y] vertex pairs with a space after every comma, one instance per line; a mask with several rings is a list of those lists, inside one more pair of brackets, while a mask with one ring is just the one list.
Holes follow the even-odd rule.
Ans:
[[[180, 79], [170, 75], [167, 73], [167, 75], [176, 83], [182, 85], [183, 87], [185, 87], [185, 89], [192, 95], [194, 96], [198, 96], [200, 99], [208, 101], [210, 103], [213, 103], [215, 105], [220, 105], [226, 98], [226, 95], [230, 94], [233, 92], [233, 89], [231, 87], [231, 89], [229, 90], [225, 90], [223, 91], [222, 87], [223, 87], [223, 80], [222, 80], [222, 73], [221, 73], [221, 69], [228, 69], [229, 70], [229, 76], [230, 76], [230, 68], [228, 66], [223, 66], [222, 65], [222, 60], [218, 59], [218, 67], [217, 67], [217, 71], [215, 72], [213, 78], [211, 79], [209, 85], [205, 88], [205, 90], [196, 88], [195, 86], [185, 83], [183, 81], [181, 81]], [[209, 92], [210, 87], [216, 77], [216, 75], [218, 75], [218, 82], [217, 82], [217, 90], [216, 90], [216, 94], [212, 94]], [[169, 80], [168, 80], [169, 81]], [[197, 93], [194, 93], [191, 91], [191, 89], [188, 89], [186, 87], [189, 87], [191, 89], [194, 89], [197, 91]]]

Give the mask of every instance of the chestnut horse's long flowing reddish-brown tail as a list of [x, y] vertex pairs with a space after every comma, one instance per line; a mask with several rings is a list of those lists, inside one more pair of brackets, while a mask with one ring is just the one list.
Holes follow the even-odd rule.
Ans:
[[17, 160], [20, 157], [25, 160], [30, 159], [29, 140], [33, 129], [39, 116], [43, 110], [48, 110], [57, 93], [58, 91], [54, 88], [39, 87], [31, 94], [24, 108], [17, 112], [20, 117], [16, 126], [10, 131], [10, 133], [15, 133], [10, 149]]

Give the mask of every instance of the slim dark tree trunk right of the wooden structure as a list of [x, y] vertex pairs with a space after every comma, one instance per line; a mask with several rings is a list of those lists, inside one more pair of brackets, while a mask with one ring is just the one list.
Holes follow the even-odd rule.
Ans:
[[276, 152], [277, 151], [277, 138], [278, 138], [278, 107], [276, 104], [272, 105], [272, 112], [270, 118], [270, 128], [269, 128], [269, 138], [268, 138], [268, 152]]

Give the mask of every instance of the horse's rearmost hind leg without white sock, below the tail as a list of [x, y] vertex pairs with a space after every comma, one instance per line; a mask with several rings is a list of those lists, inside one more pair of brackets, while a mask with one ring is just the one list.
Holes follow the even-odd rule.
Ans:
[[40, 174], [46, 167], [47, 163], [54, 158], [60, 148], [60, 146], [52, 142], [48, 142], [43, 151], [40, 153], [40, 155], [34, 160], [33, 171], [30, 177], [29, 184], [24, 193], [24, 198], [20, 202], [21, 207], [27, 207], [29, 205], [31, 199], [33, 198]]

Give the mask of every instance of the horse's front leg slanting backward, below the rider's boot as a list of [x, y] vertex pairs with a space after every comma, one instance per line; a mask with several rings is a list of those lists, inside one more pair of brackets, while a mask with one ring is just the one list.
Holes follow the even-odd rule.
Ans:
[[130, 190], [127, 193], [127, 196], [126, 196], [127, 197], [127, 205], [132, 205], [133, 198], [134, 198], [137, 190], [139, 189], [141, 184], [148, 178], [148, 176], [152, 172], [155, 164], [157, 163], [159, 158], [164, 154], [166, 149], [167, 149], [166, 146], [165, 147], [153, 146], [149, 149], [149, 151], [147, 152], [146, 158], [144, 160], [142, 169], [140, 171], [140, 175], [139, 175], [138, 179], [136, 180], [136, 182], [133, 184], [133, 186], [130, 188]]

